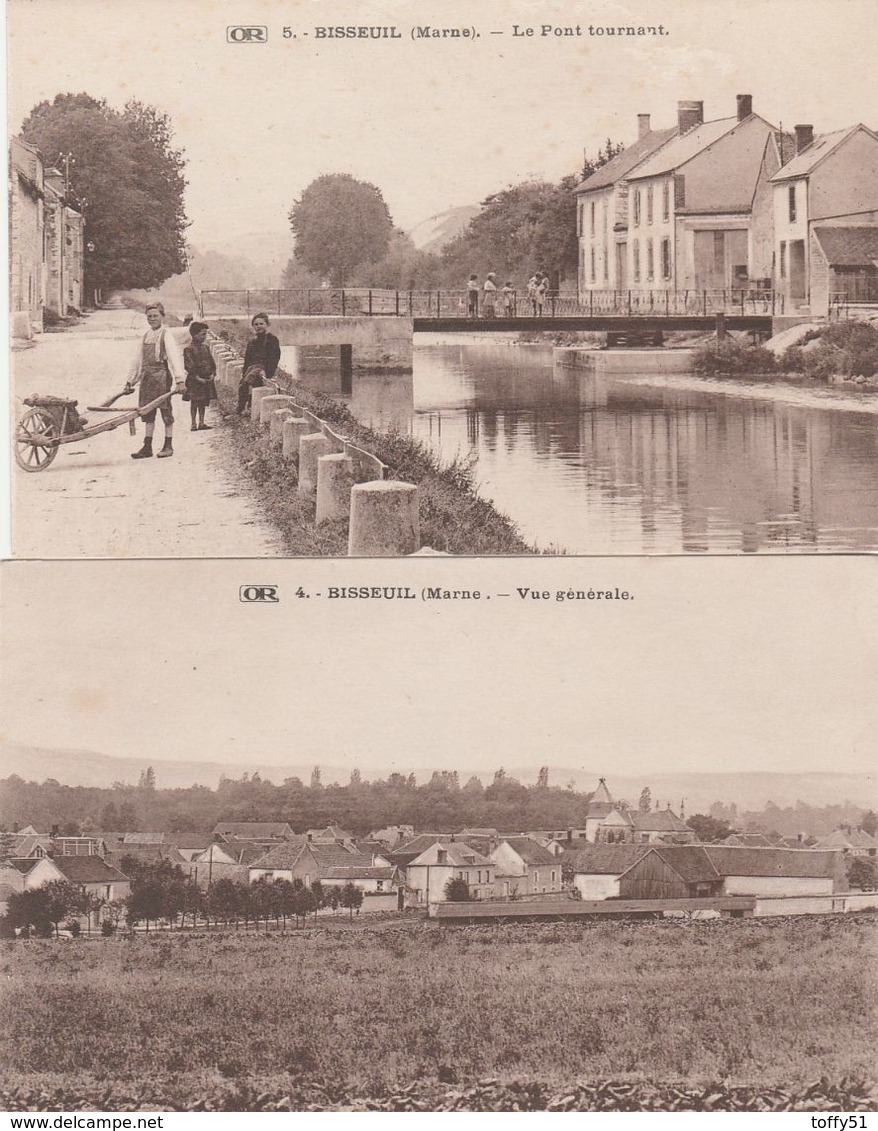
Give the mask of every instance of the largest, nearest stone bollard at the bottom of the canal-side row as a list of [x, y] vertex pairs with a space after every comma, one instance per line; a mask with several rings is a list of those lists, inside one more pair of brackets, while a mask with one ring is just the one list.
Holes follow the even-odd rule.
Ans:
[[420, 545], [414, 483], [376, 480], [352, 489], [348, 558], [396, 558], [413, 554]]

